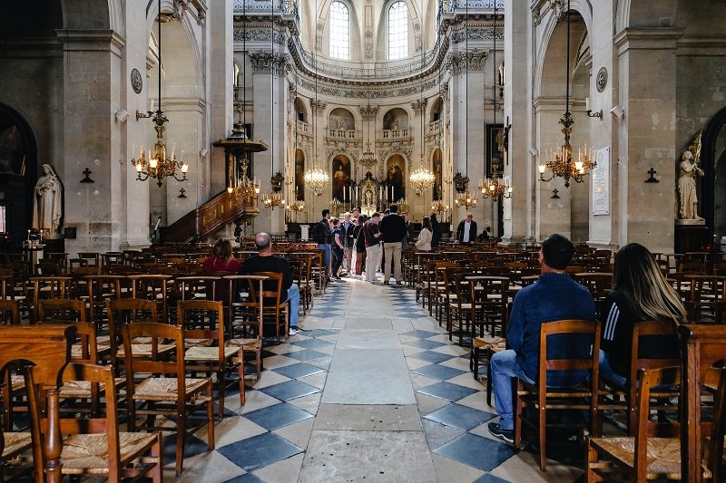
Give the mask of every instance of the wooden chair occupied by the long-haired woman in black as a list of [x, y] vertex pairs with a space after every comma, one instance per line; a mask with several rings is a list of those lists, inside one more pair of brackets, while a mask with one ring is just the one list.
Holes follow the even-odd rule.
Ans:
[[[622, 388], [615, 387], [611, 382], [606, 382], [603, 378], [600, 379], [601, 388], [604, 388], [600, 392], [601, 401], [599, 403], [601, 411], [604, 410], [621, 410], [627, 411], [628, 415], [628, 434], [635, 436], [635, 430], [637, 430], [637, 392], [638, 386], [636, 383], [638, 380], [638, 371], [643, 369], [661, 369], [663, 367], [672, 367], [681, 364], [680, 358], [671, 357], [659, 357], [659, 358], [643, 358], [640, 352], [640, 343], [645, 337], [678, 337], [676, 333], [675, 324], [672, 321], [645, 321], [635, 324], [633, 327], [633, 339], [631, 342], [631, 360], [630, 360], [630, 373], [628, 374], [628, 381]], [[651, 391], [651, 397], [658, 401], [670, 401], [678, 398], [680, 390], [658, 390]], [[624, 398], [624, 404], [619, 400]], [[659, 411], [673, 409], [672, 406], [662, 404], [652, 404], [652, 409]]]

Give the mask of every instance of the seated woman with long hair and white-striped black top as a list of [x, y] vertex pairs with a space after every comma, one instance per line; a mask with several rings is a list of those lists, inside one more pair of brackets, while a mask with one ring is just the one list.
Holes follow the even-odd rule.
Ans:
[[[633, 327], [648, 320], [683, 324], [686, 311], [681, 297], [666, 282], [655, 259], [640, 244], [623, 246], [615, 256], [613, 291], [603, 303], [600, 376], [606, 382], [625, 385], [631, 361]], [[648, 358], [678, 358], [680, 344], [675, 335], [643, 337], [638, 355]]]

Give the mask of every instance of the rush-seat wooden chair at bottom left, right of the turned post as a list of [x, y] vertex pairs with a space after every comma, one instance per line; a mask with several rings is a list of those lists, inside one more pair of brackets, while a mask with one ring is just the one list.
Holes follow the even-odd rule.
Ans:
[[[29, 382], [34, 385], [30, 371]], [[88, 382], [91, 385], [113, 387], [113, 370], [108, 366], [90, 363], [70, 363], [63, 371], [62, 382]], [[39, 398], [30, 392], [30, 404], [34, 414], [40, 414]], [[36, 440], [47, 437], [45, 418], [34, 420], [33, 434]], [[105, 418], [60, 419], [63, 450], [60, 462], [64, 475], [103, 476], [110, 481], [121, 478], [148, 476], [152, 481], [162, 481], [162, 435], [120, 432], [116, 395], [107, 391]], [[43, 459], [38, 445], [34, 445], [34, 459]], [[151, 453], [148, 457], [146, 453]]]

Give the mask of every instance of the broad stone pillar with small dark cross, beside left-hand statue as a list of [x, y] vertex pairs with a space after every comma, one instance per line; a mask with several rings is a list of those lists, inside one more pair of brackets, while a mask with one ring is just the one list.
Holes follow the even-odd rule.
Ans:
[[[123, 229], [134, 239], [143, 231], [141, 222], [122, 227], [127, 208], [122, 177], [130, 151], [122, 149], [125, 136], [113, 122], [124, 39], [110, 30], [59, 30], [57, 35], [64, 43], [64, 226], [76, 228], [76, 238], [66, 240], [65, 250], [74, 256], [117, 249]], [[93, 184], [80, 182], [85, 168], [93, 170]], [[145, 199], [141, 195], [133, 204], [133, 216], [144, 225]]]

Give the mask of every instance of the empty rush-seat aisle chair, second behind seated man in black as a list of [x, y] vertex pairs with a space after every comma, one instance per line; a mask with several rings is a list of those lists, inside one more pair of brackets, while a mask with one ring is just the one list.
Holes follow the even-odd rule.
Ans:
[[[224, 418], [224, 393], [228, 387], [228, 373], [237, 370], [240, 406], [244, 405], [244, 348], [226, 343], [224, 336], [224, 306], [211, 300], [184, 300], [177, 304], [177, 321], [184, 329], [184, 339], [211, 339], [211, 345], [188, 347], [184, 353], [187, 371], [216, 375], [217, 410], [219, 420]], [[190, 328], [193, 325], [196, 328]], [[200, 325], [206, 326], [199, 328]], [[230, 381], [234, 383], [234, 381]]]

